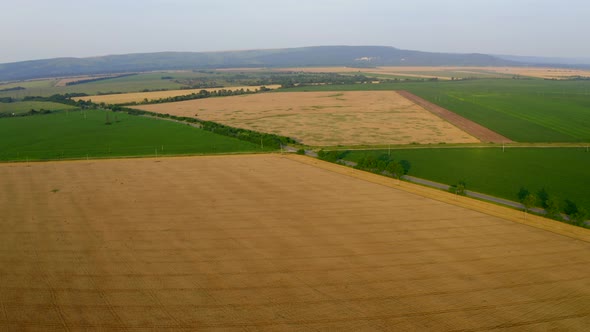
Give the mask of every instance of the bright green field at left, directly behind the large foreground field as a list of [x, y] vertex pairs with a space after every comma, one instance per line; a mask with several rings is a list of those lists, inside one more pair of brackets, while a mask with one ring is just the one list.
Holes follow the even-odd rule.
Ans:
[[91, 110], [0, 119], [2, 161], [259, 151], [259, 145], [186, 124], [125, 113]]

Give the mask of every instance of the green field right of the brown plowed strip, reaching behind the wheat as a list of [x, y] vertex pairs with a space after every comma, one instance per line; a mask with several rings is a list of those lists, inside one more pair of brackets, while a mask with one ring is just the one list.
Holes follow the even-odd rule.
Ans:
[[590, 81], [482, 79], [283, 91], [350, 90], [408, 90], [518, 142], [590, 142]]

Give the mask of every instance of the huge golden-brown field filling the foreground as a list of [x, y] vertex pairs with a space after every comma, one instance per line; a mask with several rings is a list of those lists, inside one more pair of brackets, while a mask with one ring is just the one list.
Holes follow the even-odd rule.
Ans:
[[0, 179], [2, 331], [590, 324], [586, 230], [305, 157], [2, 164]]

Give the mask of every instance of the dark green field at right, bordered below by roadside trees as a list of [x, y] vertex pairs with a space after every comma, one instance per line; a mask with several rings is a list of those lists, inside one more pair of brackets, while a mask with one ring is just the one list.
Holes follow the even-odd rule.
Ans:
[[[359, 161], [387, 150], [351, 151]], [[467, 189], [517, 200], [520, 187], [536, 193], [545, 188], [560, 200], [570, 199], [590, 210], [590, 152], [586, 148], [425, 148], [392, 150], [395, 160], [411, 163], [409, 175], [445, 184], [467, 183]]]

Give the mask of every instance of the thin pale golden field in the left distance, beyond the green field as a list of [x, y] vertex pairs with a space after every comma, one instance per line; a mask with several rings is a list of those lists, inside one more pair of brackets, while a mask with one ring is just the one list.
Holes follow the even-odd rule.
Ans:
[[[268, 85], [268, 89], [276, 89], [280, 85]], [[192, 93], [199, 93], [201, 90], [209, 92], [224, 90], [250, 90], [255, 91], [260, 89], [261, 86], [232, 86], [226, 88], [208, 88], [208, 89], [184, 89], [184, 90], [165, 90], [165, 91], [150, 91], [150, 92], [132, 92], [132, 93], [117, 93], [112, 95], [100, 95], [100, 96], [87, 96], [74, 98], [75, 100], [91, 100], [94, 103], [106, 103], [106, 104], [125, 104], [133, 102], [142, 102], [144, 100], [157, 100], [163, 98], [171, 98], [178, 96], [186, 96]]]

